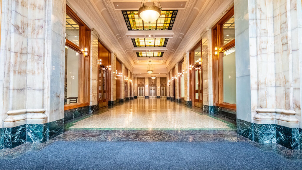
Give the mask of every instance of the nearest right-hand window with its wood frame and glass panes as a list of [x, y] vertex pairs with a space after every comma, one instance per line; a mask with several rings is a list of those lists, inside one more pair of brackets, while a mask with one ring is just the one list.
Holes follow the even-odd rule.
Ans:
[[234, 7], [212, 28], [213, 105], [236, 110]]

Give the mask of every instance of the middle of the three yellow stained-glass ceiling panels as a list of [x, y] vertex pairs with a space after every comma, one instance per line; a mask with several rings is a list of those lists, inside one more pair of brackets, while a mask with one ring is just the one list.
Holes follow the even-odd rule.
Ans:
[[134, 47], [166, 47], [168, 38], [131, 38]]

